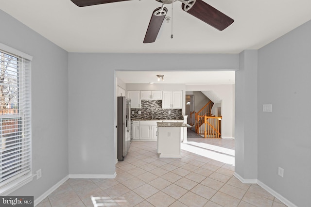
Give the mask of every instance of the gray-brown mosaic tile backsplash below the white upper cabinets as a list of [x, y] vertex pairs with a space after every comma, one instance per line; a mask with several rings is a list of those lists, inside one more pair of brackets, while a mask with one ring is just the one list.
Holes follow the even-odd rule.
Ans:
[[[134, 114], [133, 112], [134, 111]], [[138, 114], [141, 111], [141, 114]], [[171, 114], [169, 114], [171, 111]], [[141, 100], [141, 109], [131, 109], [131, 119], [179, 119], [182, 109], [162, 109], [162, 100]]]

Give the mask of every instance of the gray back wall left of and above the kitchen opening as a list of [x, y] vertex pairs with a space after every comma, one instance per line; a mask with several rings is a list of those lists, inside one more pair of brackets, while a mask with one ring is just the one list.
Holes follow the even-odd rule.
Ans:
[[238, 57], [69, 53], [69, 174], [115, 173], [115, 70], [236, 70]]

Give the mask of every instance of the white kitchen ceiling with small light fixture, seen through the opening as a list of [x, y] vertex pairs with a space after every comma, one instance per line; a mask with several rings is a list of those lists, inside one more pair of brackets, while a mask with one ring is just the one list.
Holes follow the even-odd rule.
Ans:
[[[169, 71], [117, 71], [116, 75], [125, 83], [155, 84], [186, 84], [186, 85], [217, 85], [234, 84], [234, 71], [205, 71], [205, 72], [169, 72]], [[156, 75], [164, 75], [164, 81], [157, 81]]]

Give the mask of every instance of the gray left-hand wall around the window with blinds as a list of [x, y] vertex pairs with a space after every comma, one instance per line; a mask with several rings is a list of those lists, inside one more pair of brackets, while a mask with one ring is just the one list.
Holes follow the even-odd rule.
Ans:
[[42, 177], [12, 194], [36, 199], [68, 175], [68, 52], [2, 10], [0, 19], [0, 42], [33, 56], [32, 165]]

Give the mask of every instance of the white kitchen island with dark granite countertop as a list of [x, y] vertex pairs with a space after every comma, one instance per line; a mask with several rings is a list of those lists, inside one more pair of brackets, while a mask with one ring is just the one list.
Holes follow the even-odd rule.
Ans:
[[160, 158], [181, 158], [180, 140], [184, 127], [191, 127], [180, 122], [157, 122], [157, 153]]

